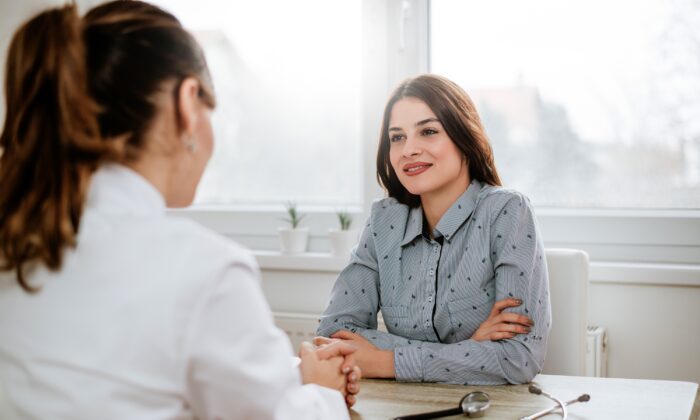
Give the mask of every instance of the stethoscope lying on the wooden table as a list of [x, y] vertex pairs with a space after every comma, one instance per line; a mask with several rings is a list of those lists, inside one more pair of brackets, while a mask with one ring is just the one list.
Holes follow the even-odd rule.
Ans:
[[[567, 406], [577, 402], [587, 402], [591, 399], [590, 395], [581, 394], [578, 398], [564, 402], [561, 399], [553, 396], [552, 394], [543, 391], [537, 385], [530, 385], [528, 387], [528, 391], [535, 395], [544, 395], [545, 397], [557, 403], [557, 405], [546, 410], [538, 411], [537, 413], [532, 414], [530, 416], [522, 417], [520, 420], [534, 420], [542, 416], [546, 416], [547, 414], [553, 413], [559, 409], [561, 409], [562, 419], [566, 420], [569, 414], [566, 410]], [[420, 413], [412, 414], [409, 416], [396, 417], [393, 420], [435, 419], [438, 417], [454, 416], [456, 414], [465, 414], [467, 417], [482, 417], [490, 406], [491, 402], [487, 393], [481, 391], [474, 391], [462, 397], [462, 399], [459, 402], [459, 406], [456, 408], [449, 408], [447, 410], [431, 411], [429, 413]]]

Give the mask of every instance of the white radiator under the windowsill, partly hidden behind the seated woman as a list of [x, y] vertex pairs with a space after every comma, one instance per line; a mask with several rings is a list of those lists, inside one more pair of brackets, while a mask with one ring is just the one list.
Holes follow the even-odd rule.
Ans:
[[[275, 324], [289, 336], [295, 352], [302, 341], [312, 341], [316, 336], [318, 315], [275, 312]], [[386, 331], [379, 319], [379, 329]], [[603, 327], [589, 326], [586, 336], [586, 376], [607, 376], [608, 336]]]

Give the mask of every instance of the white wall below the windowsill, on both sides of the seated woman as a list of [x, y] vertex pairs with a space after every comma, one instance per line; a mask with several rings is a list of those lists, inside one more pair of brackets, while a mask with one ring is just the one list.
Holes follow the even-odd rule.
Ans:
[[[339, 272], [324, 258], [337, 259], [257, 256], [273, 311], [320, 314]], [[608, 329], [608, 376], [700, 383], [700, 287], [618, 281], [594, 278], [589, 286], [588, 324]]]

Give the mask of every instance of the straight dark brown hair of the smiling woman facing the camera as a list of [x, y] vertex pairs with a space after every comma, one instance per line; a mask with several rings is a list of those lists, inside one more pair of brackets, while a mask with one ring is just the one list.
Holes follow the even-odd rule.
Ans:
[[493, 160], [493, 150], [469, 95], [444, 77], [424, 74], [403, 81], [384, 108], [377, 151], [377, 180], [389, 197], [411, 207], [420, 205], [420, 197], [408, 192], [401, 184], [389, 160], [391, 111], [396, 102], [409, 97], [425, 102], [435, 113], [447, 135], [467, 160], [471, 179], [489, 185], [501, 185]]

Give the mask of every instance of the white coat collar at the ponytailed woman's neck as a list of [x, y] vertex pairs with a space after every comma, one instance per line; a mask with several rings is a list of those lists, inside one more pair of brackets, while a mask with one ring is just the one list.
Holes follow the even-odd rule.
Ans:
[[92, 175], [85, 206], [109, 213], [158, 214], [165, 212], [165, 199], [138, 172], [108, 163]]

